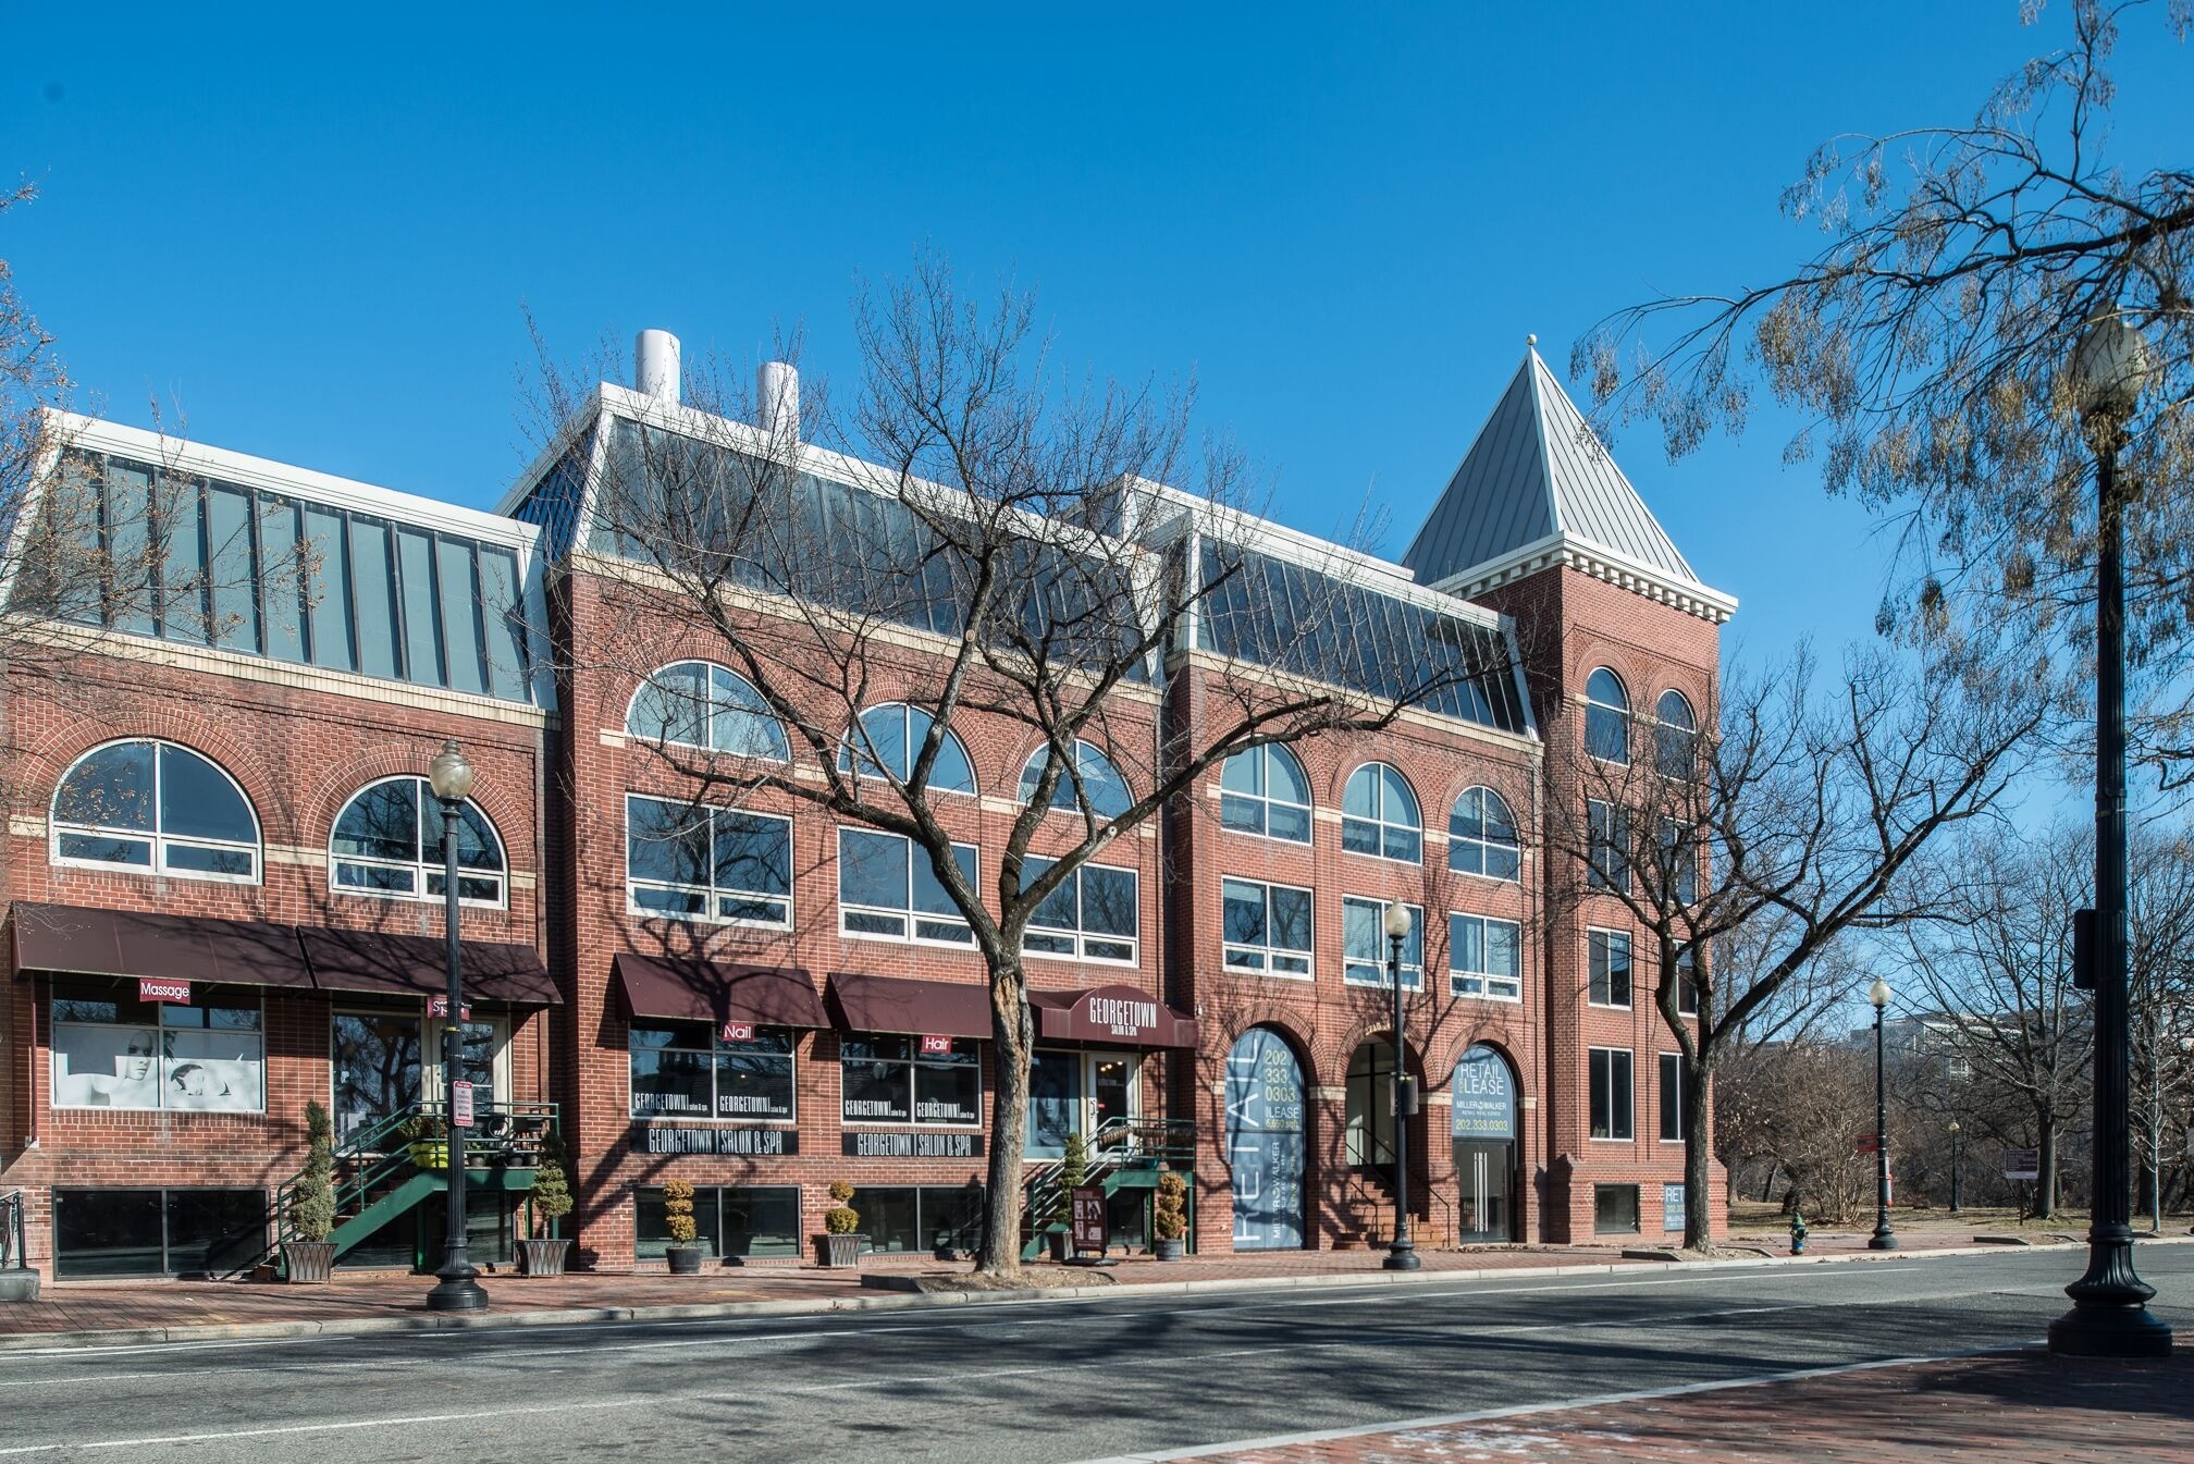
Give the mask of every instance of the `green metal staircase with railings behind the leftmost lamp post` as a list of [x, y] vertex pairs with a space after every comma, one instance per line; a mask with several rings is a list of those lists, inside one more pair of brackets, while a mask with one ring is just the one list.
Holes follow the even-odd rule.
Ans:
[[[340, 1262], [391, 1220], [448, 1194], [448, 1144], [421, 1133], [443, 1133], [441, 1100], [408, 1104], [351, 1133], [336, 1146], [336, 1242]], [[474, 1104], [474, 1126], [465, 1133], [465, 1187], [478, 1192], [527, 1192], [540, 1168], [542, 1144], [557, 1133], [555, 1104]], [[441, 1163], [432, 1163], [434, 1152]], [[290, 1216], [296, 1201], [294, 1174], [274, 1192], [274, 1242], [237, 1266], [235, 1273], [281, 1264], [285, 1240], [298, 1240]]]

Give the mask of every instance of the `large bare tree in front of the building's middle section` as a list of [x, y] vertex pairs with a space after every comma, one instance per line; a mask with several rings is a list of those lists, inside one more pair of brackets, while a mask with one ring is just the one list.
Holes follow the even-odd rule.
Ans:
[[[1512, 672], [1468, 637], [1384, 634], [1343, 551], [1325, 573], [1275, 573], [1242, 514], [1242, 461], [1189, 450], [1187, 397], [1062, 388], [1029, 296], [979, 305], [921, 261], [862, 294], [856, 340], [853, 454], [818, 446], [838, 428], [814, 395], [794, 421], [724, 373], [689, 378], [702, 410], [612, 430], [592, 503], [632, 619], [575, 654], [645, 676], [663, 626], [706, 632], [753, 685], [755, 711], [790, 731], [792, 757], [665, 740], [656, 753], [693, 797], [768, 792], [911, 841], [989, 977], [998, 1084], [981, 1266], [1011, 1273], [1031, 917], [1226, 757], [1376, 731], [1452, 687], [1499, 694]], [[564, 406], [551, 393], [557, 417]], [[1207, 652], [1196, 716], [1161, 718], [1163, 658], [1189, 645]], [[884, 700], [919, 716], [867, 722]], [[961, 748], [1000, 733], [1042, 755], [1009, 790], [1018, 814], [985, 887], [954, 849]]]

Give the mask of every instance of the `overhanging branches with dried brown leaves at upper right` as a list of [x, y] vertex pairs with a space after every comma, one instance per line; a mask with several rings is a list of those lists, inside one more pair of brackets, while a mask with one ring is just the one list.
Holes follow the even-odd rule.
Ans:
[[[1731, 294], [1621, 309], [1573, 371], [1617, 417], [1650, 417], [1672, 457], [1744, 428], [1757, 391], [1797, 413], [1786, 459], [1900, 527], [1885, 630], [1929, 634], [1964, 604], [2014, 617], [2084, 685], [2093, 617], [2091, 448], [2065, 369], [2095, 316], [2148, 336], [2128, 424], [2133, 746], [2163, 786], [2194, 779], [2194, 698], [2179, 676], [2194, 588], [2194, 171], [2126, 169], [2108, 149], [2122, 22], [2172, 42], [2194, 18], [2073, 0], [2071, 40], [2001, 81], [1964, 127], [1841, 136], [1784, 191], [1825, 235], [1797, 272]], [[2161, 13], [2159, 13], [2161, 11]], [[2062, 11], [2025, 7], [2025, 18]], [[1648, 336], [1654, 336], [1648, 340]], [[2089, 731], [2069, 729], [2084, 746]]]

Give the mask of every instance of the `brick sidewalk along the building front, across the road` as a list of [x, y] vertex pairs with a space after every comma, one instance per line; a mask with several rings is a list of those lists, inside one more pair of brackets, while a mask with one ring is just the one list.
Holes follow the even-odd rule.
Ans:
[[[1966, 1251], [1970, 1234], [1913, 1236], [1889, 1258], [1865, 1249], [1865, 1234], [1817, 1236], [1806, 1258], [1749, 1255], [1724, 1262], [1676, 1264], [1810, 1264], [1836, 1260], [1896, 1260]], [[1762, 1247], [1764, 1249], [1764, 1247]], [[869, 1258], [860, 1271], [814, 1266], [711, 1266], [700, 1275], [579, 1273], [564, 1277], [487, 1275], [494, 1310], [450, 1317], [426, 1310], [432, 1284], [419, 1275], [358, 1275], [327, 1286], [252, 1282], [57, 1282], [37, 1302], [0, 1306], [0, 1350], [75, 1343], [145, 1343], [237, 1337], [301, 1337], [314, 1332], [391, 1332], [450, 1326], [546, 1326], [575, 1321], [691, 1319], [739, 1315], [796, 1315], [904, 1306], [950, 1306], [1029, 1297], [1117, 1295], [1121, 1286], [1163, 1291], [1229, 1291], [1246, 1286], [1349, 1286], [1492, 1275], [1577, 1275], [1617, 1269], [1656, 1269], [1670, 1262], [1626, 1260], [1619, 1247], [1472, 1247], [1424, 1251], [1424, 1271], [1391, 1273], [1382, 1251], [1288, 1251], [1211, 1260], [1156, 1262], [1130, 1258], [1101, 1273], [1075, 1273], [1075, 1284], [998, 1293], [908, 1295], [862, 1286], [862, 1273], [882, 1277], [950, 1275], [968, 1271], [919, 1255]], [[1051, 1275], [1058, 1275], [1051, 1269]]]

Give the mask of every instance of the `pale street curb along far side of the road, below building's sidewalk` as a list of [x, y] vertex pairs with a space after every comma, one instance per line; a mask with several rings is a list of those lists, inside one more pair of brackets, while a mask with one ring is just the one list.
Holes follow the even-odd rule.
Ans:
[[[2194, 1236], [2144, 1236], [2139, 1245], [2194, 1245]], [[2071, 1249], [2049, 1245], [2036, 1249]], [[2003, 1247], [1942, 1247], [1933, 1251], [1845, 1251], [1836, 1255], [1764, 1255], [1685, 1262], [1685, 1273], [1764, 1271], [1771, 1266], [1896, 1264], [1950, 1255], [2003, 1255]], [[939, 1306], [998, 1306], [1014, 1302], [1106, 1302], [1143, 1295], [1209, 1295], [1237, 1291], [1327, 1291], [1347, 1286], [1428, 1286], [1439, 1282], [1549, 1280], [1562, 1275], [1665, 1275], [1665, 1264], [1588, 1262], [1573, 1266], [1479, 1266], [1472, 1271], [1365, 1271], [1323, 1275], [1244, 1275], [1202, 1282], [1141, 1282], [1134, 1286], [1022, 1286], [1016, 1291], [851, 1293], [814, 1302], [700, 1302], [691, 1306], [570, 1306], [559, 1310], [465, 1317], [327, 1317], [314, 1321], [235, 1321], [213, 1326], [114, 1328], [101, 1332], [18, 1332], [0, 1337], [0, 1352], [125, 1348], [165, 1341], [259, 1341], [283, 1337], [375, 1337], [391, 1332], [520, 1330], [599, 1321], [709, 1321], [731, 1317], [823, 1317], [832, 1313], [930, 1310]]]

